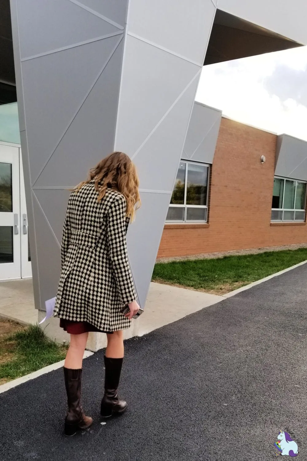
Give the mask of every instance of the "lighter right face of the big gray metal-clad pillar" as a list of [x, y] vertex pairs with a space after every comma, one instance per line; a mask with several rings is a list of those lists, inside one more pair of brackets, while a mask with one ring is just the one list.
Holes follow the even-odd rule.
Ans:
[[115, 148], [140, 177], [143, 206], [127, 234], [144, 305], [203, 67], [211, 0], [130, 0]]

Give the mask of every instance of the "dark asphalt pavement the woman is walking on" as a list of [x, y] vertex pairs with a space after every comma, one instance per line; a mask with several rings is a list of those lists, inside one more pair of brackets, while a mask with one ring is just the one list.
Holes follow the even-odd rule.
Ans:
[[62, 435], [62, 370], [0, 395], [0, 460], [258, 461], [279, 429], [307, 459], [307, 265], [126, 342], [122, 417], [99, 419], [103, 351], [84, 361], [95, 421]]

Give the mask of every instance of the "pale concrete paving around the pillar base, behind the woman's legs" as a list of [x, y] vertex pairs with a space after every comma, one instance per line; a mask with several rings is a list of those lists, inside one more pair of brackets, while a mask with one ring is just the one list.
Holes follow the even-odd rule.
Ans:
[[[145, 312], [138, 320], [133, 320], [131, 328], [125, 331], [125, 335], [128, 338], [142, 336], [222, 299], [221, 296], [199, 291], [151, 283]], [[26, 324], [34, 324], [38, 319], [45, 317], [44, 312], [38, 313], [35, 309], [32, 280], [0, 283], [0, 317]], [[58, 319], [50, 319], [42, 324], [42, 328], [48, 336], [59, 342], [69, 341], [69, 335], [59, 328], [58, 323]], [[87, 349], [97, 351], [104, 347], [106, 347], [106, 335], [90, 333]]]

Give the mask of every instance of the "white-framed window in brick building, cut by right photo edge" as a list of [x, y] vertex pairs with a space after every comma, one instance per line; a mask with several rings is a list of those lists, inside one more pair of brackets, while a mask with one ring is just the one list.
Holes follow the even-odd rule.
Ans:
[[306, 183], [275, 177], [271, 221], [305, 221]]

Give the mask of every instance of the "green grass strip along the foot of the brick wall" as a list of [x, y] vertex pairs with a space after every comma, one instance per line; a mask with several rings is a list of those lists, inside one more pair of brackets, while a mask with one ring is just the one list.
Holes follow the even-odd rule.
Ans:
[[307, 248], [156, 263], [152, 281], [224, 294], [307, 260]]

